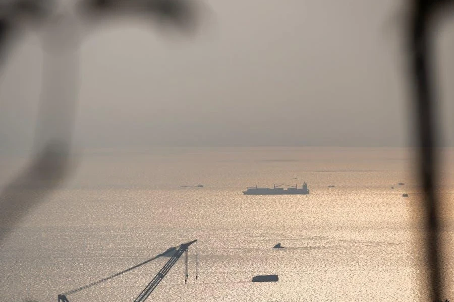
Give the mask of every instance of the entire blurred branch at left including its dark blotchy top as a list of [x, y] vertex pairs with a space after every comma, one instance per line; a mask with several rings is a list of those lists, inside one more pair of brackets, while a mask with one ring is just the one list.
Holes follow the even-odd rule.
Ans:
[[[186, 0], [80, 0], [79, 4], [83, 8], [78, 12], [79, 18], [104, 19], [117, 14], [141, 17], [147, 13], [150, 20], [168, 21], [178, 29], [186, 30], [186, 33], [195, 29], [196, 25], [195, 7]], [[0, 15], [0, 51], [4, 51], [6, 40], [11, 36], [8, 33], [16, 22], [16, 14], [25, 12], [44, 27], [43, 82], [34, 158], [0, 191], [0, 243], [26, 213], [43, 200], [46, 193], [67, 178], [70, 168], [73, 168], [69, 153], [79, 88], [80, 24], [68, 12], [53, 14], [52, 5], [47, 0], [17, 0], [0, 6], [0, 13], [3, 13], [2, 8], [9, 8], [12, 12], [5, 18]]]

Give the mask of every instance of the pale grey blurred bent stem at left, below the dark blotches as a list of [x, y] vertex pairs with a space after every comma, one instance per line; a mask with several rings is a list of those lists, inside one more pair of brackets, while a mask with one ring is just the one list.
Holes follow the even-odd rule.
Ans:
[[44, 24], [43, 77], [33, 159], [0, 191], [0, 242], [68, 177], [72, 168], [70, 146], [78, 98], [79, 33], [71, 17], [52, 16]]

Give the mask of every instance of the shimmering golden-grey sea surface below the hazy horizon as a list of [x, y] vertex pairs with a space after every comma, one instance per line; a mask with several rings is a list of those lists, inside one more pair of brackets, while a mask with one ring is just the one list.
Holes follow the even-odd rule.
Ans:
[[[454, 153], [443, 152], [439, 184], [449, 218]], [[0, 185], [25, 163], [0, 156]], [[420, 300], [425, 256], [415, 164], [405, 148], [91, 150], [1, 243], [0, 300], [56, 301], [194, 239], [198, 280], [191, 247], [188, 284], [180, 259], [149, 300]], [[242, 193], [256, 184], [303, 181], [310, 195]], [[180, 188], [198, 184], [204, 187]], [[453, 244], [452, 226], [444, 220], [446, 246]], [[271, 249], [277, 243], [287, 249]], [[68, 298], [132, 301], [167, 260]], [[452, 279], [452, 253], [443, 260]], [[252, 283], [257, 274], [278, 274], [279, 281]], [[451, 287], [447, 295], [454, 299]]]

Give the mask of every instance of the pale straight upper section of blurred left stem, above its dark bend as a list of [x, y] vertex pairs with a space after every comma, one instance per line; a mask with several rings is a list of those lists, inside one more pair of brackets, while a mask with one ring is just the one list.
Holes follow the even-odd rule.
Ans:
[[36, 153], [48, 144], [59, 146], [59, 152], [70, 149], [79, 93], [78, 40], [77, 24], [71, 15], [58, 15], [49, 21], [42, 47], [42, 90], [34, 141]]

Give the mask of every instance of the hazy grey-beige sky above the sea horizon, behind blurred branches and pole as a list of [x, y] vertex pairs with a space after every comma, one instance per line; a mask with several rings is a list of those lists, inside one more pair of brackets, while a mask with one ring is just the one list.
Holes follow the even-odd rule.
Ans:
[[[209, 26], [168, 37], [118, 22], [80, 48], [75, 143], [81, 147], [402, 146], [410, 140], [396, 0], [205, 2]], [[437, 39], [445, 129], [452, 129], [454, 22]], [[42, 78], [35, 35], [0, 84], [2, 148], [30, 146]], [[445, 130], [451, 143], [452, 132]]]

